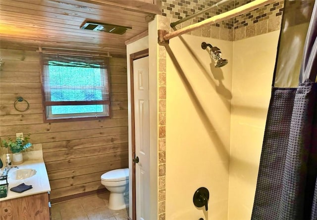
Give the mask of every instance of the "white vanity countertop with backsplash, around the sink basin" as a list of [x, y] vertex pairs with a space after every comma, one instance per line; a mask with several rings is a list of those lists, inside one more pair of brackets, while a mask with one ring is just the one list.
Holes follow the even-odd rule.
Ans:
[[[45, 163], [43, 160], [43, 152], [42, 150], [29, 151], [23, 154], [24, 162], [20, 165], [17, 165], [20, 169], [34, 169], [36, 170], [36, 174], [34, 176], [25, 178], [25, 179], [12, 179], [17, 169], [11, 169], [8, 173], [8, 190], [7, 196], [4, 198], [0, 198], [0, 202], [8, 199], [14, 199], [29, 195], [34, 195], [43, 192], [50, 192], [51, 186], [49, 182], [48, 173], [46, 171]], [[3, 171], [3, 168], [2, 170]], [[1, 181], [1, 184], [5, 183]], [[12, 192], [10, 188], [17, 186], [21, 183], [26, 185], [32, 185], [33, 188], [26, 190], [22, 193]]]

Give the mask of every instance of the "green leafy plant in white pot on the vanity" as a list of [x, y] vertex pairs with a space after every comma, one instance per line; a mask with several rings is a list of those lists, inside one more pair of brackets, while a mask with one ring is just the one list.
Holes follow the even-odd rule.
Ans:
[[28, 134], [24, 139], [22, 137], [16, 137], [15, 140], [12, 140], [11, 137], [8, 138], [8, 140], [2, 140], [2, 145], [5, 148], [10, 148], [12, 152], [12, 162], [13, 164], [22, 164], [23, 163], [23, 150], [29, 148], [32, 146], [32, 144], [29, 142], [30, 134]]

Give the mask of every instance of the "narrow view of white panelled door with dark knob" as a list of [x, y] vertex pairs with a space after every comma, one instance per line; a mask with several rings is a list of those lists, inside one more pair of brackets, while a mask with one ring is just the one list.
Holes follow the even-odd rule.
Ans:
[[150, 220], [149, 57], [133, 61], [136, 219]]

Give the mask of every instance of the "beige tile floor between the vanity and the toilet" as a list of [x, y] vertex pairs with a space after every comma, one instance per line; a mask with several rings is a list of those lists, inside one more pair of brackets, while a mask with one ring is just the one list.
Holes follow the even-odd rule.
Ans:
[[52, 205], [52, 220], [127, 220], [128, 208], [107, 208], [109, 193], [80, 197]]

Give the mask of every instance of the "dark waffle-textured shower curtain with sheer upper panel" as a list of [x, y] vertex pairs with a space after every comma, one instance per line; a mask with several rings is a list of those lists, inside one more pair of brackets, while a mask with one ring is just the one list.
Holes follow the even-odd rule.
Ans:
[[315, 0], [285, 0], [252, 220], [317, 220], [316, 37]]

